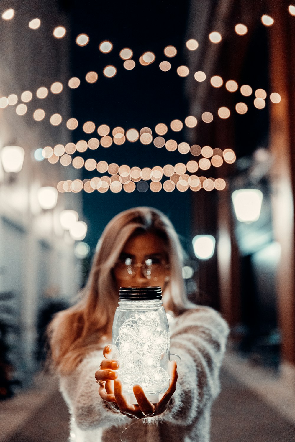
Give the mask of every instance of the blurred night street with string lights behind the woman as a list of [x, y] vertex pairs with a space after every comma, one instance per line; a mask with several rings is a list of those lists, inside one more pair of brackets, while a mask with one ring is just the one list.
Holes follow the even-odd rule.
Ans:
[[[2, 1], [1, 442], [66, 441], [44, 331], [153, 206], [230, 324], [211, 439], [295, 441], [295, 4]], [[123, 166], [123, 167], [122, 167]]]

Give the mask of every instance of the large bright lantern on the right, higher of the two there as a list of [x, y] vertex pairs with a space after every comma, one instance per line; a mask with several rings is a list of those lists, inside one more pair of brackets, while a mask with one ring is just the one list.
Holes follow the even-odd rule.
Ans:
[[258, 189], [241, 189], [231, 195], [238, 221], [253, 222], [260, 217], [263, 194]]

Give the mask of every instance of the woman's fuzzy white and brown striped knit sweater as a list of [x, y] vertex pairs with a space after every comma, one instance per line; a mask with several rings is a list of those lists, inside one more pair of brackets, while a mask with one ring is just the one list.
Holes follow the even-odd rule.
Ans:
[[211, 307], [196, 306], [170, 327], [170, 351], [178, 354], [176, 392], [165, 412], [129, 419], [109, 409], [98, 393], [94, 373], [102, 351], [88, 354], [60, 391], [69, 407], [70, 441], [75, 442], [209, 442], [211, 406], [220, 392], [219, 370], [229, 333], [227, 322]]

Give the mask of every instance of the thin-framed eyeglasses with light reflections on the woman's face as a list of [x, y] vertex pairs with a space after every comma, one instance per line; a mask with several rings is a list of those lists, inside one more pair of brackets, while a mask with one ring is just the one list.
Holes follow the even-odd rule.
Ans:
[[149, 258], [142, 263], [134, 263], [131, 258], [119, 258], [115, 264], [114, 271], [118, 278], [131, 279], [136, 274], [138, 267], [142, 268], [142, 274], [146, 279], [156, 281], [165, 274], [170, 266], [160, 258]]

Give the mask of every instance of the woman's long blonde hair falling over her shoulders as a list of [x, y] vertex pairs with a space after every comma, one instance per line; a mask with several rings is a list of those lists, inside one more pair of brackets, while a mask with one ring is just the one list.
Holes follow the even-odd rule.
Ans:
[[116, 215], [105, 227], [96, 247], [88, 282], [76, 305], [57, 313], [48, 328], [50, 357], [61, 374], [69, 374], [93, 350], [111, 339], [118, 290], [112, 269], [124, 244], [137, 232], [161, 237], [169, 259], [170, 279], [163, 293], [166, 309], [176, 315], [194, 306], [182, 278], [184, 251], [168, 217], [151, 207], [135, 207]]

